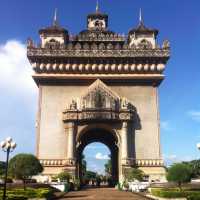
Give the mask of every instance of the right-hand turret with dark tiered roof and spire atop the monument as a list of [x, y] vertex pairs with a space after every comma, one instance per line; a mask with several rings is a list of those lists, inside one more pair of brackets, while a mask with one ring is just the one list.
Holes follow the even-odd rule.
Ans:
[[128, 34], [128, 43], [130, 47], [138, 48], [156, 48], [156, 37], [158, 30], [147, 28], [144, 25], [142, 18], [142, 11], [140, 9], [139, 25], [137, 28], [133, 28]]

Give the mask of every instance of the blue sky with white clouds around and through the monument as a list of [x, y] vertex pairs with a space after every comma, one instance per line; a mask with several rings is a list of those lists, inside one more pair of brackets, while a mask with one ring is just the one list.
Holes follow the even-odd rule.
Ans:
[[[18, 143], [16, 153], [33, 153], [35, 148], [37, 88], [26, 59], [26, 39], [31, 36], [39, 41], [38, 30], [51, 24], [55, 8], [60, 24], [76, 34], [85, 28], [86, 15], [95, 10], [95, 4], [95, 0], [1, 1], [0, 140], [12, 136]], [[100, 0], [100, 9], [109, 14], [110, 29], [119, 33], [127, 34], [138, 24], [140, 8], [145, 24], [160, 30], [158, 41], [169, 39], [172, 48], [166, 79], [159, 88], [163, 156], [168, 163], [199, 158], [200, 2]], [[103, 147], [87, 152], [90, 159], [94, 157], [93, 164], [101, 160], [101, 165], [105, 159], [96, 159], [96, 154], [105, 158], [109, 153]]]

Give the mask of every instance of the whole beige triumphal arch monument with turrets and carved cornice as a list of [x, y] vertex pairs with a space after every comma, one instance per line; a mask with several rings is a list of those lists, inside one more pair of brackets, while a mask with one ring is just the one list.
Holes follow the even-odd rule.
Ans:
[[110, 31], [98, 7], [77, 35], [56, 15], [39, 34], [41, 44], [29, 39], [27, 55], [39, 88], [36, 154], [43, 174], [68, 171], [81, 178], [84, 148], [102, 142], [111, 151], [114, 180], [123, 180], [130, 167], [162, 179], [158, 86], [169, 42], [160, 47], [158, 31], [142, 17], [128, 36]]

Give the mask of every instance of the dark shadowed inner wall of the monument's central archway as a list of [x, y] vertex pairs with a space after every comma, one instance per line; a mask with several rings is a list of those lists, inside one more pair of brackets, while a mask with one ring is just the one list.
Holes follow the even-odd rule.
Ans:
[[111, 158], [111, 178], [113, 185], [119, 180], [119, 149], [118, 137], [113, 131], [104, 128], [91, 128], [84, 131], [78, 138], [79, 146], [77, 148], [77, 170], [80, 180], [83, 180], [83, 166], [81, 158], [83, 151], [91, 143], [99, 142], [106, 145], [110, 150]]

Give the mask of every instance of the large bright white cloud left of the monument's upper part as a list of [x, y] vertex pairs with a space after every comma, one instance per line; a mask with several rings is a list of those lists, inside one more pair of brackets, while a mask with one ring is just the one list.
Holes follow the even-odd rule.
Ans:
[[0, 88], [30, 95], [37, 91], [31, 77], [32, 69], [26, 56], [26, 46], [17, 40], [0, 44]]

